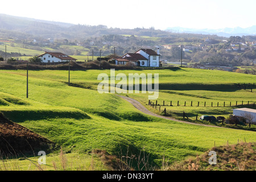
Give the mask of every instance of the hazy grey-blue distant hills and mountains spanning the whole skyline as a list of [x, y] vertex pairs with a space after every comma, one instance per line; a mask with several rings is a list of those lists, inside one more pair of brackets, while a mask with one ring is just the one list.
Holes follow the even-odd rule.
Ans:
[[[81, 24], [53, 22], [47, 20], [39, 20], [34, 18], [24, 18], [19, 16], [11, 16], [0, 14], [0, 36], [13, 37], [19, 39], [33, 39], [35, 37], [42, 38], [67, 38], [80, 39], [91, 36], [102, 35], [138, 35], [138, 36], [170, 36], [170, 33], [188, 33], [201, 35], [217, 35], [217, 36], [242, 36], [256, 35], [256, 26], [249, 28], [224, 28], [224, 29], [193, 29], [172, 27], [166, 30], [153, 30], [147, 28], [108, 28], [104, 25], [89, 26]], [[1, 37], [0, 37], [1, 38]]]

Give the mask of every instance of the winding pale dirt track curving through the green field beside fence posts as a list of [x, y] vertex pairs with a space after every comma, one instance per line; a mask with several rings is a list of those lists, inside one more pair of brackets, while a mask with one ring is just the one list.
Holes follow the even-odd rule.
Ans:
[[140, 102], [138, 102], [137, 100], [134, 100], [133, 98], [125, 97], [125, 96], [120, 96], [120, 95], [117, 95], [117, 94], [115, 94], [115, 95], [123, 98], [124, 100], [126, 100], [128, 102], [130, 102], [134, 107], [136, 107], [138, 110], [142, 111], [143, 113], [148, 114], [148, 115], [152, 115], [152, 116], [155, 116], [155, 117], [158, 117], [158, 118], [164, 118], [164, 119], [168, 119], [168, 120], [171, 120], [171, 121], [187, 123], [187, 124], [190, 124], [190, 125], [200, 125], [200, 126], [207, 126], [207, 127], [219, 127], [219, 128], [231, 129], [231, 128], [228, 128], [228, 127], [203, 125], [203, 124], [199, 124], [199, 123], [192, 123], [192, 122], [187, 122], [187, 121], [181, 121], [179, 119], [175, 119], [175, 118], [159, 115], [159, 114], [156, 114], [156, 113], [152, 113], [146, 107], [144, 107]]

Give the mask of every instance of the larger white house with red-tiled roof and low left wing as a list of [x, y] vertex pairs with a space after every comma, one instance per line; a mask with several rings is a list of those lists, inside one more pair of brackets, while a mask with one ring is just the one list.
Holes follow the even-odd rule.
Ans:
[[159, 67], [160, 66], [160, 54], [159, 48], [155, 52], [152, 49], [139, 49], [135, 53], [126, 53], [119, 58], [110, 59], [115, 61], [115, 64], [125, 65], [128, 62], [133, 62], [139, 67]]

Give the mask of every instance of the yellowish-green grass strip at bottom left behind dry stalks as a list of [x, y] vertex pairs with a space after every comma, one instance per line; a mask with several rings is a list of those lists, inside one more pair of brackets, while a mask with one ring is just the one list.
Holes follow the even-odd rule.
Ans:
[[5, 160], [0, 163], [0, 171], [102, 171], [106, 168], [97, 155], [88, 154], [49, 154], [46, 156], [46, 164], [39, 156], [30, 158], [18, 158]]

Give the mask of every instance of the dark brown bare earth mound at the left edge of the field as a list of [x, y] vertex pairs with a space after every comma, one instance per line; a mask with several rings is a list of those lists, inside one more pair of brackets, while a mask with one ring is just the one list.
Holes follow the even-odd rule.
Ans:
[[0, 113], [0, 157], [19, 154], [37, 155], [37, 152], [47, 152], [54, 146], [55, 144], [50, 140], [11, 122]]

